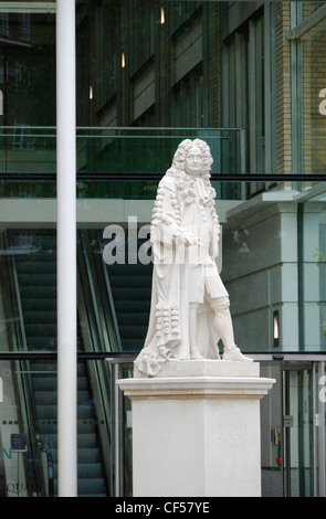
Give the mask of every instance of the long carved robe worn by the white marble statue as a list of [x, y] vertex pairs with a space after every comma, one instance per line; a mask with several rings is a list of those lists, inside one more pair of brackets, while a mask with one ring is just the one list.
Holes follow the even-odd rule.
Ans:
[[[190, 342], [202, 357], [219, 358], [219, 337], [207, 296], [228, 296], [214, 261], [220, 226], [214, 201], [202, 179], [191, 179], [187, 186], [180, 189], [178, 179], [165, 174], [154, 206], [149, 326], [135, 360], [148, 377], [155, 377], [169, 359], [190, 359]], [[190, 305], [197, 308], [196, 337], [190, 337]]]

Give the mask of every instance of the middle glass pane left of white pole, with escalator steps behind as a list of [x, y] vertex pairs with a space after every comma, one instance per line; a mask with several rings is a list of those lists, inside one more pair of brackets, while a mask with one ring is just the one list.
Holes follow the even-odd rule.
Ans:
[[1, 351], [55, 351], [55, 234], [10, 230], [0, 241]]

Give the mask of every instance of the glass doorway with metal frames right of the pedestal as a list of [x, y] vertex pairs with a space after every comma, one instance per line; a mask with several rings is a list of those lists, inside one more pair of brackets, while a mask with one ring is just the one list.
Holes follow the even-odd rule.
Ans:
[[[263, 474], [277, 475], [277, 497], [325, 497], [326, 356], [251, 357], [261, 363], [261, 377], [276, 379], [261, 407]], [[275, 495], [275, 487], [267, 494]]]

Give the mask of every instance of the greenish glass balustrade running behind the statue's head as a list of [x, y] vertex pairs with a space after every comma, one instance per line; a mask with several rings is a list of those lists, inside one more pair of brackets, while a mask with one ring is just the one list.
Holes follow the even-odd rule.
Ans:
[[[56, 128], [0, 127], [0, 177], [49, 174], [56, 169]], [[78, 127], [77, 171], [111, 176], [161, 176], [171, 165], [178, 144], [202, 138], [214, 159], [212, 173], [244, 172], [244, 133], [241, 128], [103, 128]]]

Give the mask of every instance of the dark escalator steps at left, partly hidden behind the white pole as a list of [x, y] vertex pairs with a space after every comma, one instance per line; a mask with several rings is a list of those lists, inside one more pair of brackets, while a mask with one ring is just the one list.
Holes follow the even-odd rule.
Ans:
[[[56, 352], [56, 251], [55, 232], [9, 234], [14, 252], [25, 349]], [[78, 333], [78, 350], [83, 340]], [[54, 495], [57, 492], [56, 363], [29, 361], [36, 423], [41, 442], [52, 454]], [[78, 496], [106, 497], [107, 481], [102, 459], [98, 423], [86, 364], [78, 363], [77, 459]]]

